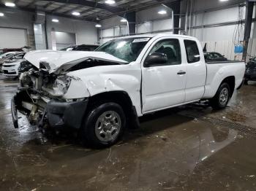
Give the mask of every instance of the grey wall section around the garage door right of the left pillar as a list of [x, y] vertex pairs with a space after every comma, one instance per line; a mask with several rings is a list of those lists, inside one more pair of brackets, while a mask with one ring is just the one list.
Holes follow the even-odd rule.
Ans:
[[97, 28], [95, 28], [95, 23], [69, 19], [66, 17], [54, 17], [59, 20], [59, 23], [53, 23], [52, 16], [46, 17], [47, 20], [47, 31], [48, 31], [48, 46], [52, 49], [52, 38], [51, 32], [66, 32], [75, 34], [75, 39], [77, 44], [97, 44]]

